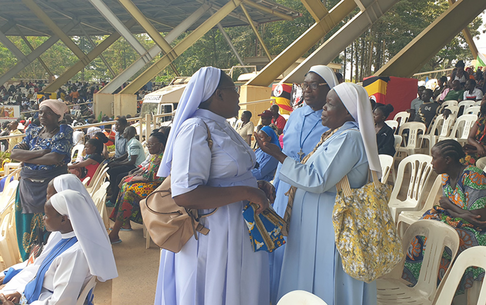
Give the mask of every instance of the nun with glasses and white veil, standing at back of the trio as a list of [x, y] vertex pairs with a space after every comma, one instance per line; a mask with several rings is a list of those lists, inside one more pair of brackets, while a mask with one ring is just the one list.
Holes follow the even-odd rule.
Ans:
[[[282, 153], [301, 161], [309, 154], [321, 135], [329, 128], [321, 124], [322, 107], [326, 104], [326, 96], [330, 89], [338, 84], [336, 75], [328, 66], [314, 65], [309, 69], [302, 82], [305, 104], [295, 109], [283, 128]], [[277, 196], [273, 205], [275, 211], [283, 217], [289, 197], [285, 194], [291, 185], [279, 179], [280, 167], [278, 164], [275, 173], [274, 185]], [[270, 282], [272, 304], [277, 304], [278, 281], [282, 267], [285, 245], [277, 248], [270, 254]]]

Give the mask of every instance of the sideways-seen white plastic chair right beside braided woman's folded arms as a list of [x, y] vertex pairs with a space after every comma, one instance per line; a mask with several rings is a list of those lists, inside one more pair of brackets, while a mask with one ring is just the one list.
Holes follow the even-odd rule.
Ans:
[[432, 209], [434, 204], [438, 204], [440, 197], [442, 196], [442, 175], [439, 175], [435, 178], [434, 184], [432, 185], [432, 189], [425, 200], [423, 208], [419, 211], [403, 211], [398, 215], [397, 221], [397, 229], [400, 236], [405, 234], [405, 230], [419, 220], [422, 215]]

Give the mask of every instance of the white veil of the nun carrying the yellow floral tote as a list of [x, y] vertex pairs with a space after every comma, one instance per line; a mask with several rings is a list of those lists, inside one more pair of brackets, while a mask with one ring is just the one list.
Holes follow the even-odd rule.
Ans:
[[372, 171], [376, 171], [378, 177], [380, 177], [382, 167], [378, 158], [375, 121], [373, 120], [368, 93], [362, 86], [351, 82], [343, 82], [335, 86], [333, 90], [337, 93], [354, 121], [358, 123], [369, 168]]

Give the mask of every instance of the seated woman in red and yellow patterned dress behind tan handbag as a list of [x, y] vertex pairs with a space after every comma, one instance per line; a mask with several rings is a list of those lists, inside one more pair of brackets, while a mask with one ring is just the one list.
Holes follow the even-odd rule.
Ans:
[[111, 211], [110, 219], [115, 222], [111, 229], [111, 243], [121, 242], [118, 233], [121, 229], [131, 230], [130, 220], [137, 224], [142, 223], [139, 202], [148, 194], [152, 193], [164, 181], [164, 178], [157, 177], [158, 167], [167, 143], [167, 137], [161, 132], [154, 132], [147, 140], [147, 148], [152, 155], [147, 170], [138, 176], [123, 178], [120, 193], [118, 194], [115, 208]]

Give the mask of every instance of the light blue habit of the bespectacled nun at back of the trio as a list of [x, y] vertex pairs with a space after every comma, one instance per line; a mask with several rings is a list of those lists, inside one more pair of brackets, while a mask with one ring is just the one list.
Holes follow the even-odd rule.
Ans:
[[[321, 140], [321, 135], [329, 130], [329, 128], [322, 126], [321, 113], [322, 109], [313, 111], [310, 106], [304, 104], [304, 106], [295, 109], [290, 114], [287, 124], [283, 128], [282, 152], [285, 155], [300, 161], [298, 153], [301, 147], [304, 153], [303, 156], [308, 155], [314, 149], [315, 145]], [[273, 207], [278, 215], [283, 217], [289, 202], [289, 197], [285, 193], [289, 191], [291, 185], [279, 180], [278, 172], [281, 166], [282, 163], [278, 163], [275, 173], [274, 186], [277, 189], [277, 196]], [[273, 305], [277, 304], [278, 282], [284, 250], [285, 245], [270, 253], [268, 257], [270, 262], [270, 299]]]

